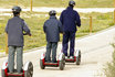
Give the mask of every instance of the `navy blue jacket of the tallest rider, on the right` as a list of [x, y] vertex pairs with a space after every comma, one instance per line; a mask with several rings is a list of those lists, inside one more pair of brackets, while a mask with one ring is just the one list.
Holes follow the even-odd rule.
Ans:
[[72, 7], [67, 7], [67, 9], [61, 13], [60, 21], [62, 22], [64, 32], [76, 32], [76, 25], [81, 26], [80, 15]]

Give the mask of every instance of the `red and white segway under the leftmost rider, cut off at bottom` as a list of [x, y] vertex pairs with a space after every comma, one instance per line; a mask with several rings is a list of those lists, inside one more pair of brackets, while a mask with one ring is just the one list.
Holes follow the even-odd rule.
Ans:
[[4, 62], [1, 69], [1, 76], [2, 77], [32, 77], [33, 76], [33, 65], [31, 62], [25, 63], [25, 65], [22, 68], [22, 73], [18, 74], [17, 69], [14, 69], [14, 73], [9, 73], [8, 69], [8, 62]]

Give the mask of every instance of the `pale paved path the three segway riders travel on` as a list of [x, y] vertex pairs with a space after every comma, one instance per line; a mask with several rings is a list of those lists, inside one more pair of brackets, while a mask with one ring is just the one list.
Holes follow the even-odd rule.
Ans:
[[[54, 67], [40, 69], [40, 55], [45, 48], [33, 51], [24, 54], [24, 62], [31, 61], [34, 65], [33, 77], [105, 77], [103, 75], [103, 66], [106, 62], [112, 61], [115, 26], [103, 32], [76, 40], [76, 47], [82, 51], [82, 63], [80, 66], [75, 64], [66, 64], [64, 70]], [[58, 53], [61, 51], [59, 44]], [[0, 69], [7, 57], [0, 58]]]

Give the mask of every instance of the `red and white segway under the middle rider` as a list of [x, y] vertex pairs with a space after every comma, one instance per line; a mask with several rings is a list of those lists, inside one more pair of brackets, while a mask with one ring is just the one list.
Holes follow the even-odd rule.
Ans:
[[65, 56], [63, 53], [59, 55], [59, 58], [56, 63], [46, 63], [45, 62], [45, 53], [42, 53], [41, 58], [40, 58], [40, 67], [41, 69], [44, 69], [45, 67], [60, 67], [61, 70], [64, 69], [65, 66]]

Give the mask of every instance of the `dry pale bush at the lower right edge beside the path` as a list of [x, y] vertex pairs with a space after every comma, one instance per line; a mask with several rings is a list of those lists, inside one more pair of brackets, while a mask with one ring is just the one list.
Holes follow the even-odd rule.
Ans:
[[[115, 44], [113, 44], [115, 50]], [[113, 62], [107, 64], [107, 68], [105, 69], [106, 77], [115, 77], [115, 51], [113, 53]]]

